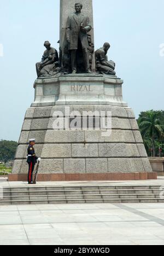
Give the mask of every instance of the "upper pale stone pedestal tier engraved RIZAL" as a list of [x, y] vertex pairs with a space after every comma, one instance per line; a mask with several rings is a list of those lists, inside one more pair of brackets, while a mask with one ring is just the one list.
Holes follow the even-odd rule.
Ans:
[[31, 107], [62, 105], [109, 105], [127, 107], [122, 99], [123, 80], [117, 77], [65, 75], [37, 79]]

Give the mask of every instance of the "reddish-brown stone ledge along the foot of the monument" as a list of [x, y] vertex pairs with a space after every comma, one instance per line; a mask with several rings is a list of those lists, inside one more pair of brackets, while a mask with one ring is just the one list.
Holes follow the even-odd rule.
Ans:
[[[38, 181], [137, 181], [157, 179], [156, 172], [134, 173], [56, 173], [38, 174]], [[8, 181], [27, 181], [27, 174], [9, 174]]]

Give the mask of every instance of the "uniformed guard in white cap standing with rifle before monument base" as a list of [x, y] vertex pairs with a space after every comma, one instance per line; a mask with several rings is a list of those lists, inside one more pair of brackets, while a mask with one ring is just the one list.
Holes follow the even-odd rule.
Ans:
[[35, 154], [34, 145], [36, 144], [35, 139], [29, 140], [30, 144], [27, 149], [27, 162], [28, 162], [28, 184], [33, 184], [33, 170], [34, 166], [36, 165], [37, 161], [40, 161], [41, 159], [38, 158]]

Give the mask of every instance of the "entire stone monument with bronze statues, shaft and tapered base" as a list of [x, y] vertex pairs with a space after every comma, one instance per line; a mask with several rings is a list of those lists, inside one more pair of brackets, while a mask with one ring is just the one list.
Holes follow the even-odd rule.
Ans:
[[123, 80], [107, 59], [110, 44], [94, 53], [92, 0], [60, 2], [60, 54], [45, 42], [9, 181], [26, 181], [31, 137], [42, 158], [39, 181], [156, 179], [133, 110], [122, 99]]

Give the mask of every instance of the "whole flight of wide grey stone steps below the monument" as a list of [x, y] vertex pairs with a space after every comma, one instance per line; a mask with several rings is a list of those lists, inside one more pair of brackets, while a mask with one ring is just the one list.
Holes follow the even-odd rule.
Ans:
[[[5, 187], [0, 205], [75, 202], [163, 202], [159, 185]], [[163, 200], [163, 201], [162, 201]]]

